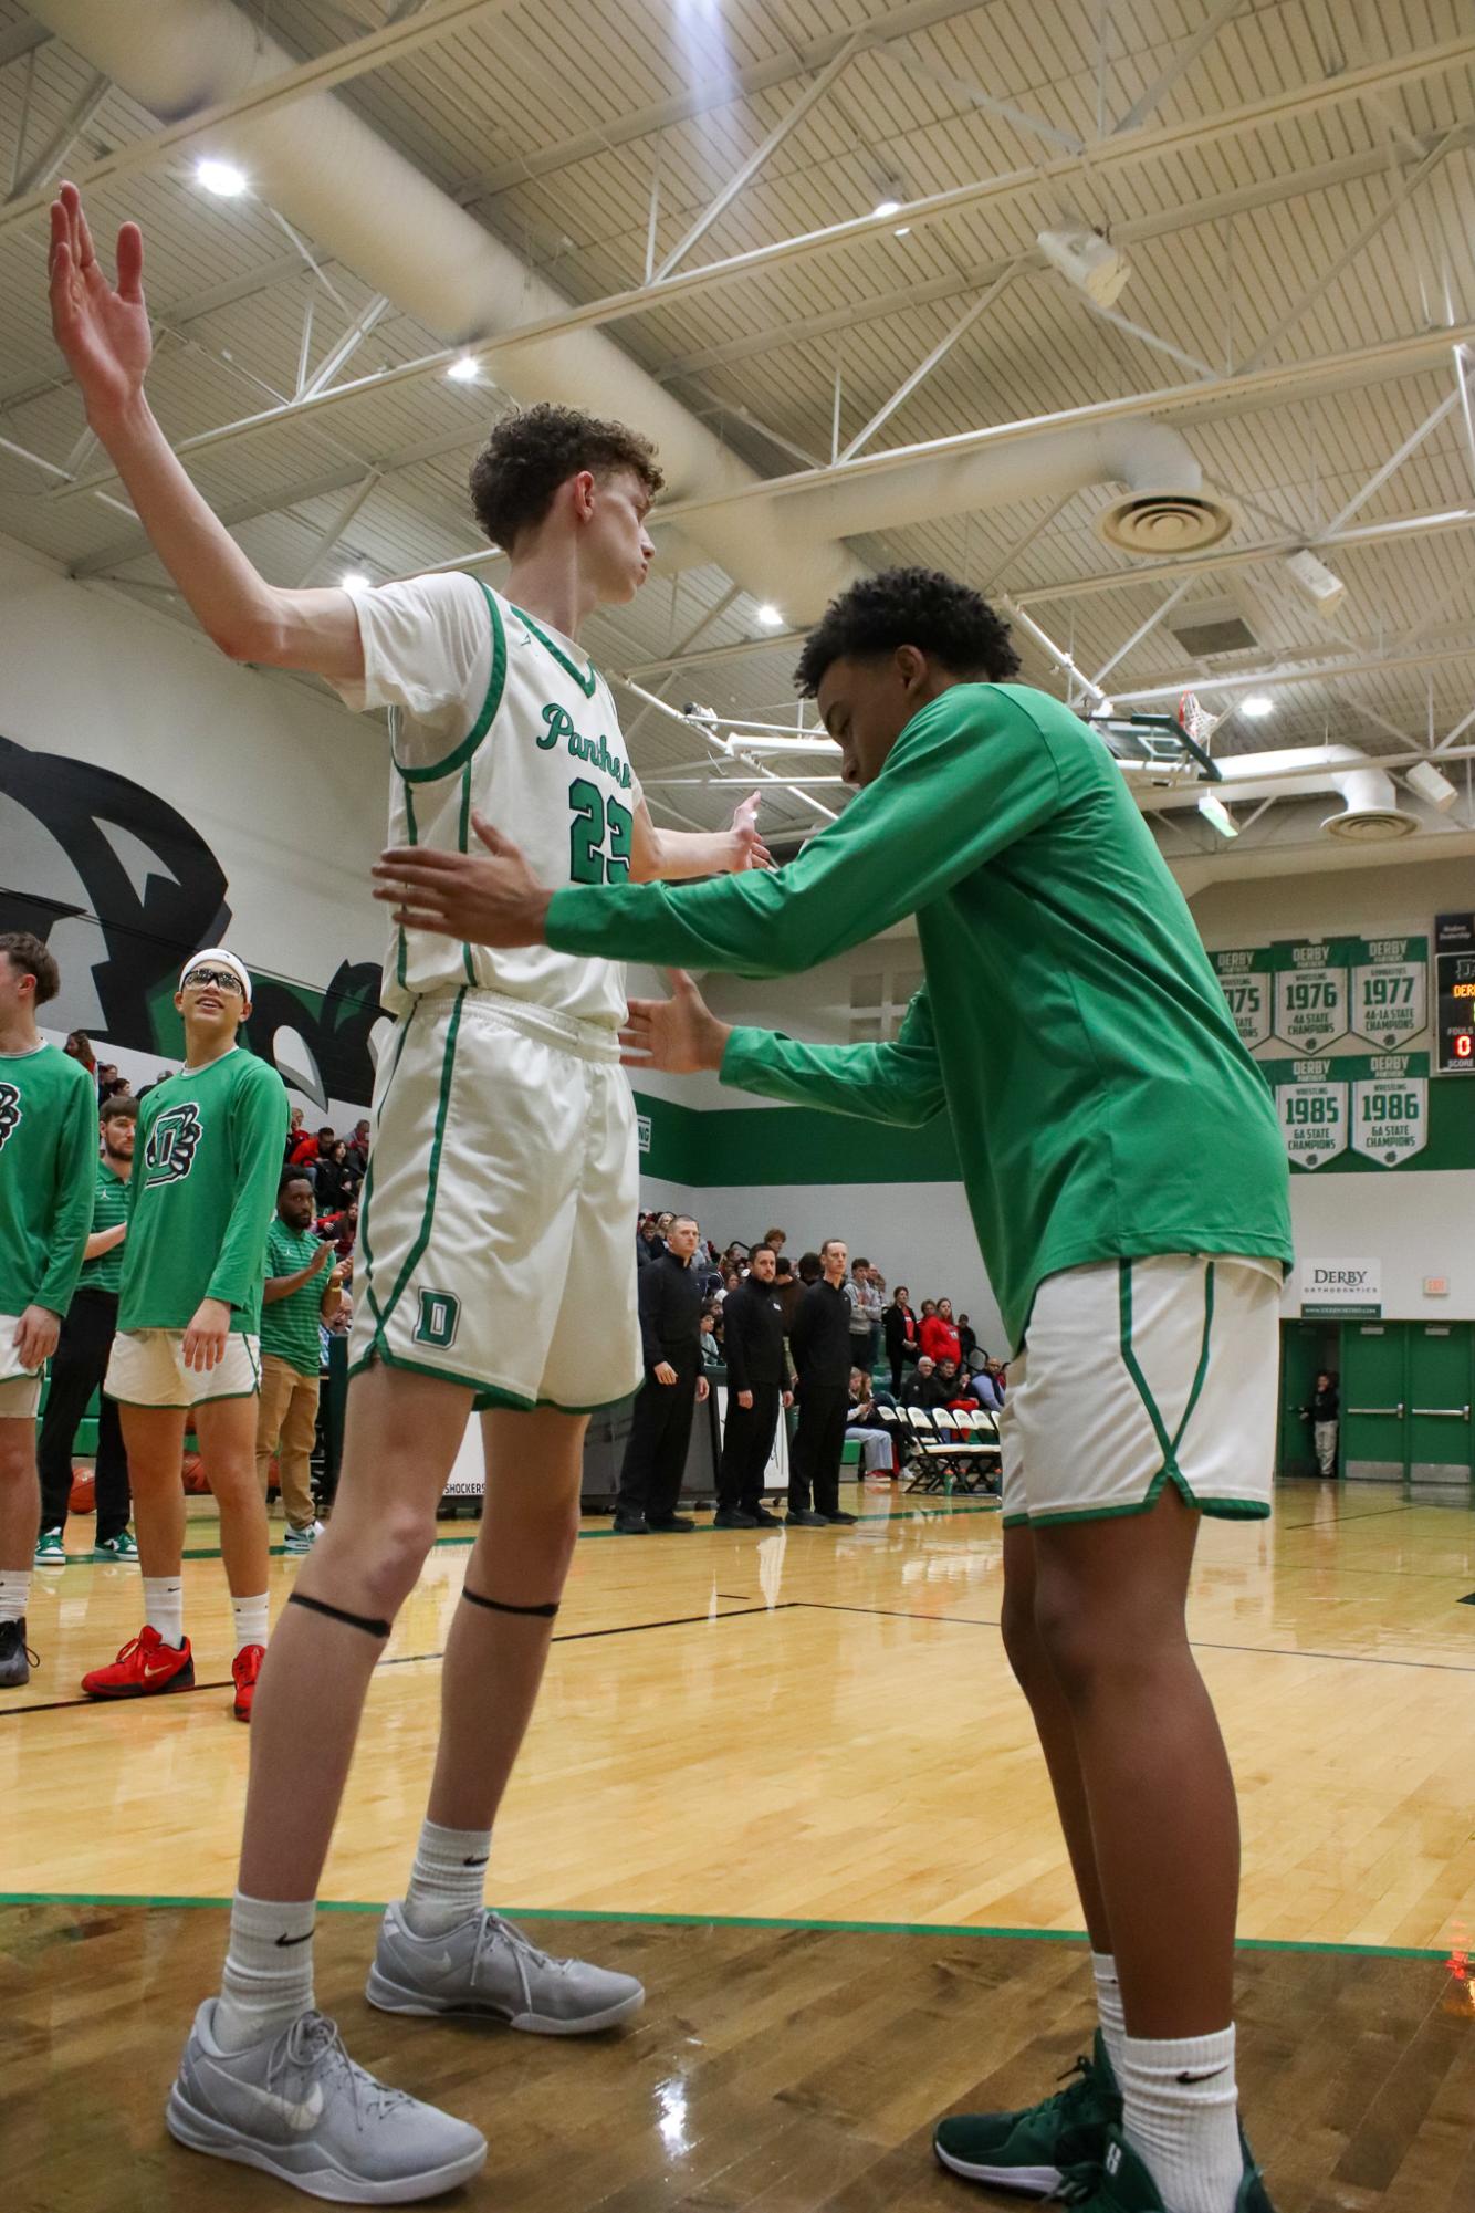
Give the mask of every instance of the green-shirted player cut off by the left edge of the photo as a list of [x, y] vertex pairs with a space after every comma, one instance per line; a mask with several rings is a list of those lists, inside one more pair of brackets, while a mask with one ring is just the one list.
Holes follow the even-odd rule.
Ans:
[[31, 1680], [40, 1374], [93, 1219], [93, 1078], [35, 1027], [35, 1009], [57, 989], [55, 958], [40, 938], [27, 929], [0, 936], [0, 1691]]

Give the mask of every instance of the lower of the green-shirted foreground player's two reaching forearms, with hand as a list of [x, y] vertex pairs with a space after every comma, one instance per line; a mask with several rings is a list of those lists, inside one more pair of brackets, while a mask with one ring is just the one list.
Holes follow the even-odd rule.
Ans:
[[927, 989], [887, 1045], [798, 1045], [774, 1029], [721, 1022], [692, 978], [674, 969], [670, 998], [630, 1000], [619, 1045], [628, 1069], [710, 1069], [739, 1091], [862, 1122], [920, 1129], [946, 1104]]

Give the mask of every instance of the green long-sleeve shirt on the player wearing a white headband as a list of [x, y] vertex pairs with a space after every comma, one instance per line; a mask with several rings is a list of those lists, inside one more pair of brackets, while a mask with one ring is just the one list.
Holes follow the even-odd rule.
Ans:
[[186, 1330], [201, 1299], [261, 1328], [265, 1233], [276, 1211], [287, 1091], [241, 1047], [155, 1084], [139, 1109], [119, 1330]]

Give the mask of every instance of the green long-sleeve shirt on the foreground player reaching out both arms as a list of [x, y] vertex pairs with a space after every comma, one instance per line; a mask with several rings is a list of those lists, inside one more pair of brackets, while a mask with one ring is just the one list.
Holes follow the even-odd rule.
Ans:
[[904, 914], [918, 916], [927, 987], [893, 1045], [739, 1029], [723, 1082], [882, 1122], [946, 1109], [1015, 1346], [1035, 1288], [1061, 1268], [1150, 1253], [1291, 1259], [1265, 1080], [1121, 770], [1044, 693], [953, 686], [787, 867], [681, 890], [568, 887], [548, 945], [783, 976]]

